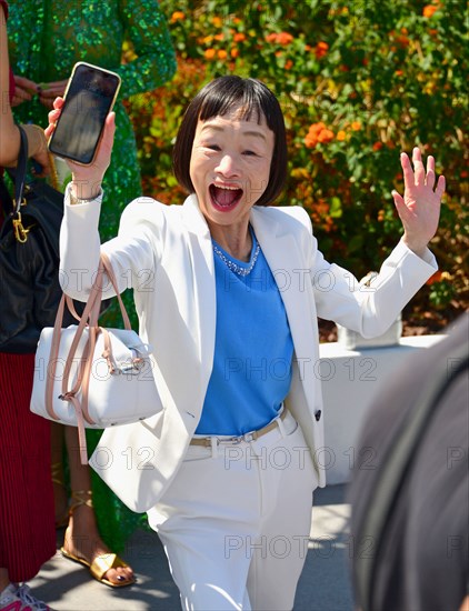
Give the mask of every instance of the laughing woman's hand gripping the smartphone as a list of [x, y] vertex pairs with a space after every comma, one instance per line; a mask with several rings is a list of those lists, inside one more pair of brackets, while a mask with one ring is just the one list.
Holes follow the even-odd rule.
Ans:
[[[60, 117], [62, 106], [63, 98], [56, 98], [56, 100], [53, 101], [53, 110], [49, 112], [49, 126], [44, 130], [46, 137], [48, 139], [53, 133], [56, 123]], [[90, 163], [89, 166], [82, 166], [80, 163], [71, 161], [70, 159], [66, 159], [67, 164], [72, 172], [71, 189], [76, 198], [91, 199], [99, 194], [101, 190], [102, 179], [111, 161], [114, 131], [116, 114], [114, 112], [110, 112], [106, 118], [104, 130], [98, 144], [98, 150], [92, 163]]]

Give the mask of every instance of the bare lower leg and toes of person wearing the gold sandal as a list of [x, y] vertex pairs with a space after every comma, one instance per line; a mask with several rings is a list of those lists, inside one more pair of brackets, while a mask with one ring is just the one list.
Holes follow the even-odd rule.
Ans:
[[[64, 427], [66, 443], [70, 464], [70, 485], [72, 500], [70, 521], [66, 531], [63, 549], [78, 558], [92, 562], [96, 557], [109, 554], [111, 550], [101, 540], [91, 495], [90, 468], [80, 463], [78, 431], [73, 427]], [[132, 581], [133, 571], [130, 567], [109, 569], [106, 579], [118, 585]]]

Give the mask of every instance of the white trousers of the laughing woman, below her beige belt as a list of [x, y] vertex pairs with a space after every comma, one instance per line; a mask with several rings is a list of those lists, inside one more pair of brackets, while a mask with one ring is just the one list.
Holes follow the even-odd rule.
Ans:
[[190, 445], [148, 512], [186, 610], [290, 610], [317, 477], [291, 414], [257, 441]]

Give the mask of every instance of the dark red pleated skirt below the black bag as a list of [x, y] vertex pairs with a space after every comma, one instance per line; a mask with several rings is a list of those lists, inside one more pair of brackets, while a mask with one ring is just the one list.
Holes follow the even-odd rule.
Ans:
[[33, 354], [0, 352], [0, 568], [28, 581], [56, 553], [50, 424], [29, 411]]

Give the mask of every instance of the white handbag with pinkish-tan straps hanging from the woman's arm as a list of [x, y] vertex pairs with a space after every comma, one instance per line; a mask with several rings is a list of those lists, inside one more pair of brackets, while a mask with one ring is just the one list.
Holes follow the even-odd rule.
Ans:
[[[118, 296], [124, 329], [98, 324], [104, 271]], [[79, 324], [62, 329], [66, 303]], [[49, 420], [78, 427], [81, 463], [87, 464], [84, 428], [129, 424], [162, 410], [150, 347], [130, 327], [112, 267], [102, 253], [82, 315], [63, 294], [54, 327], [41, 332], [30, 409]]]

